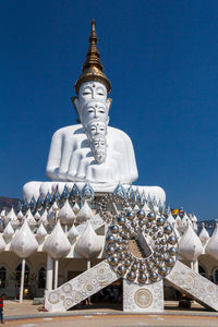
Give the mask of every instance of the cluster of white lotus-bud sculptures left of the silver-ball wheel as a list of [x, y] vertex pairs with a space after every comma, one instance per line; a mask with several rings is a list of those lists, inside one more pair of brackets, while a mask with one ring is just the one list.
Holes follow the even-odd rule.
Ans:
[[[7, 226], [0, 234], [0, 252], [5, 250], [5, 244], [10, 244], [10, 247], [8, 246], [10, 251], [22, 258], [26, 258], [36, 252], [40, 245], [41, 250], [51, 257], [64, 257], [78, 237], [74, 222], [87, 221], [86, 228], [81, 233], [80, 239], [76, 240], [76, 244], [74, 244], [74, 249], [78, 256], [85, 258], [96, 257], [100, 253], [102, 244], [92, 227], [90, 221], [95, 213], [87, 202], [84, 203], [81, 209], [77, 204], [72, 209], [66, 201], [59, 213], [56, 213], [58, 205], [53, 203], [50, 210], [47, 213], [45, 209], [41, 216], [36, 213], [34, 217], [29, 209], [23, 217], [21, 211], [15, 215], [13, 208], [4, 217], [2, 215], [4, 213], [1, 213], [1, 222], [2, 225], [7, 223]], [[64, 231], [61, 223], [65, 225]], [[69, 230], [68, 226], [70, 226]], [[49, 234], [47, 230], [51, 228], [53, 229]], [[33, 230], [35, 230], [35, 233]]]

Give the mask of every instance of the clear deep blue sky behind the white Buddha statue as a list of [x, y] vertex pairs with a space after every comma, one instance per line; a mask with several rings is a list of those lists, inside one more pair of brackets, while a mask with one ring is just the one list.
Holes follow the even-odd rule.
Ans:
[[46, 180], [51, 136], [76, 119], [71, 96], [93, 17], [110, 124], [133, 141], [137, 183], [217, 218], [218, 1], [2, 0], [0, 195]]

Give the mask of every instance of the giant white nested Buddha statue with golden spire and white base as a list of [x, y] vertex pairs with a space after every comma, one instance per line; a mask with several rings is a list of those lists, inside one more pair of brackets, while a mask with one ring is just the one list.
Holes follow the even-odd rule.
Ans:
[[[89, 182], [95, 192], [112, 192], [120, 183], [129, 187], [138, 173], [130, 137], [121, 130], [108, 126], [112, 100], [109, 80], [104, 73], [97, 49], [95, 22], [92, 23], [89, 48], [83, 71], [74, 88], [72, 101], [80, 124], [58, 130], [51, 140], [46, 174], [50, 182], [28, 182], [24, 198], [28, 202], [39, 194], [75, 183], [80, 187]], [[165, 191], [158, 186], [137, 186], [138, 191], [165, 202]]]

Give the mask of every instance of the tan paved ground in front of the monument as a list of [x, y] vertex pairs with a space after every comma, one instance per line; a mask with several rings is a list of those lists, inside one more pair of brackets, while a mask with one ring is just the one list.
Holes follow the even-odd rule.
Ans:
[[179, 310], [178, 302], [167, 302], [164, 314], [123, 314], [121, 306], [99, 305], [81, 306], [64, 314], [50, 314], [38, 311], [40, 305], [32, 301], [20, 304], [16, 301], [4, 301], [7, 326], [17, 327], [143, 327], [143, 326], [218, 326], [218, 313], [206, 311], [198, 304], [192, 310]]

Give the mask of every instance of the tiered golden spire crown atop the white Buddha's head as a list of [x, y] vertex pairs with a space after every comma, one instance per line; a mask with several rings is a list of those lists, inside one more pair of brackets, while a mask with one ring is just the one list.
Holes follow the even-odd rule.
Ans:
[[97, 81], [105, 84], [108, 93], [111, 90], [110, 81], [104, 74], [104, 66], [100, 62], [100, 55], [97, 49], [97, 35], [95, 29], [95, 20], [92, 22], [92, 31], [89, 36], [89, 48], [86, 55], [85, 63], [83, 64], [83, 72], [76, 81], [74, 88], [78, 94], [81, 84], [88, 81]]

